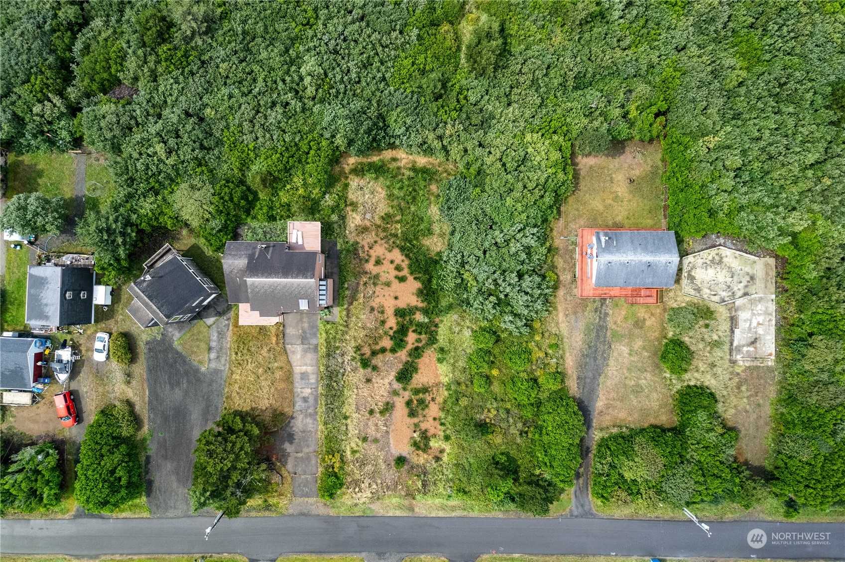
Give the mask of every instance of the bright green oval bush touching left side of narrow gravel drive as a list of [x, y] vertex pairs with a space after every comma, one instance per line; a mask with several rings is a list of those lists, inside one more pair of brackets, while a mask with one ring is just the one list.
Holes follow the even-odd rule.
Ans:
[[537, 467], [560, 486], [571, 486], [581, 464], [581, 437], [586, 435], [584, 417], [565, 388], [542, 401], [531, 440]]

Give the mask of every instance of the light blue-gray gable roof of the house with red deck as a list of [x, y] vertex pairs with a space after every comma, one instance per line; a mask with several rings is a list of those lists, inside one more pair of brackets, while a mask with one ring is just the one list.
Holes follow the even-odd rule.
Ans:
[[597, 230], [593, 285], [665, 288], [675, 284], [680, 257], [671, 230]]

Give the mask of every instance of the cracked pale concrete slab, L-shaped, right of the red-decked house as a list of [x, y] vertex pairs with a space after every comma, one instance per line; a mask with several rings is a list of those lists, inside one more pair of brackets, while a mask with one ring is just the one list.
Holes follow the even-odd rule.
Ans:
[[684, 257], [684, 295], [727, 305], [733, 322], [731, 362], [775, 359], [775, 260], [717, 246]]

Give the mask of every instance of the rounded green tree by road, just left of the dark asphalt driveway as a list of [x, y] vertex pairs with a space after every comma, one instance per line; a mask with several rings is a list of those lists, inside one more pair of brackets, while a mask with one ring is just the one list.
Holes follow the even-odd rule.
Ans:
[[74, 498], [87, 511], [115, 511], [144, 491], [137, 423], [127, 402], [101, 409], [79, 446]]

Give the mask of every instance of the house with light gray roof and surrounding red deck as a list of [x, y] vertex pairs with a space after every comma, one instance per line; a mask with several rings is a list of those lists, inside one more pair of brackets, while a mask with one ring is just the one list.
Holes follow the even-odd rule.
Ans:
[[578, 230], [578, 296], [656, 305], [680, 261], [675, 233], [657, 229]]

